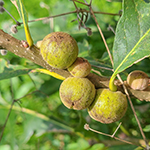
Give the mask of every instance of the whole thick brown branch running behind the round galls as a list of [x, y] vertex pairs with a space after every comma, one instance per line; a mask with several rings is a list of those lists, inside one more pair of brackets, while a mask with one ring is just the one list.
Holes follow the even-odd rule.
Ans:
[[[14, 53], [15, 55], [31, 60], [35, 64], [40, 65], [43, 68], [51, 72], [55, 72], [65, 78], [71, 76], [67, 70], [52, 68], [48, 65], [40, 55], [40, 50], [36, 46], [32, 46], [30, 49], [23, 47], [20, 40], [12, 37], [11, 35], [5, 33], [0, 29], [0, 49], [7, 49], [8, 51]], [[87, 78], [95, 85], [96, 88], [109, 88], [109, 78], [98, 76], [94, 73], [90, 73]], [[118, 90], [124, 91], [122, 84], [115, 80], [115, 84], [118, 86]], [[128, 88], [131, 96], [138, 98], [139, 100], [150, 101], [150, 88], [144, 91], [135, 91]]]

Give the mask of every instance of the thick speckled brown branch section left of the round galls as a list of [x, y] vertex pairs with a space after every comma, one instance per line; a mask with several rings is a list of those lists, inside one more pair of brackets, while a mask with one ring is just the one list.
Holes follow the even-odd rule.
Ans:
[[30, 49], [23, 47], [20, 40], [15, 39], [11, 35], [5, 33], [0, 29], [0, 48], [6, 49], [15, 55], [31, 60], [32, 62], [50, 70], [51, 72], [56, 72], [63, 77], [69, 77], [70, 74], [66, 70], [55, 69], [49, 66], [40, 55], [40, 50], [36, 46], [32, 46]]

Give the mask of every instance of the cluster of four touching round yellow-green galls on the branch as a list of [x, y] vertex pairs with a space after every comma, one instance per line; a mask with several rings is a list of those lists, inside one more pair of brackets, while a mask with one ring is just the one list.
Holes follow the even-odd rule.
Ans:
[[91, 118], [101, 123], [120, 120], [127, 110], [126, 96], [120, 91], [95, 89], [86, 78], [91, 71], [90, 63], [78, 57], [75, 39], [64, 32], [47, 35], [40, 46], [43, 59], [52, 67], [67, 69], [71, 77], [66, 78], [59, 89], [62, 103], [69, 109], [88, 110]]

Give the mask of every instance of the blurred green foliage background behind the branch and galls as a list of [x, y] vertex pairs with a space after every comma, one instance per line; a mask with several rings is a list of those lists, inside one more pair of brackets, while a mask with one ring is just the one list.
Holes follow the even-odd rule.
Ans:
[[[15, 6], [9, 0], [4, 2], [4, 7], [16, 20], [22, 22]], [[69, 0], [27, 0], [24, 1], [24, 4], [28, 11], [29, 20], [75, 10], [73, 3]], [[94, 11], [116, 14], [121, 10], [121, 5], [120, 2], [96, 0], [93, 1], [92, 8]], [[88, 10], [87, 7], [81, 4], [77, 4], [77, 6]], [[119, 16], [96, 14], [96, 17], [111, 50], [114, 34], [108, 30], [108, 26], [111, 25], [115, 29]], [[74, 19], [76, 19], [76, 14], [29, 23], [34, 43], [53, 31], [68, 32], [78, 42], [80, 57], [87, 58], [93, 65], [111, 68], [108, 54], [93, 18], [89, 16], [86, 23], [93, 30], [93, 35], [90, 37], [87, 36], [85, 29], [78, 29], [78, 22], [72, 22]], [[15, 22], [6, 12], [0, 14], [1, 29], [12, 34], [10, 27], [13, 24]], [[23, 26], [18, 27], [18, 33], [13, 34], [13, 36], [17, 39], [25, 40]], [[4, 70], [7, 63], [11, 64], [11, 67], [16, 65], [28, 69], [39, 67], [29, 60], [15, 56], [11, 52], [8, 52], [6, 56], [0, 56], [0, 72]], [[134, 69], [142, 69], [150, 74], [147, 63], [149, 63], [149, 59], [143, 60], [127, 69], [122, 76], [125, 78], [126, 73]], [[111, 71], [94, 69], [103, 76], [112, 74]], [[86, 131], [84, 124], [88, 123], [95, 130], [112, 134], [119, 123], [101, 124], [91, 119], [87, 110], [75, 111], [67, 109], [59, 98], [61, 82], [58, 79], [40, 73], [27, 73], [11, 79], [0, 80], [0, 133], [11, 103], [13, 99], [17, 99], [0, 142], [1, 150], [133, 150], [137, 147], [122, 145], [124, 143], [115, 142], [115, 140], [108, 137]], [[150, 138], [149, 104], [136, 99], [133, 99], [133, 103], [145, 134], [147, 138]], [[128, 111], [121, 121], [123, 123], [116, 136], [125, 138], [128, 135], [129, 139], [132, 140], [133, 138], [138, 141], [141, 135], [130, 107], [128, 107]]]

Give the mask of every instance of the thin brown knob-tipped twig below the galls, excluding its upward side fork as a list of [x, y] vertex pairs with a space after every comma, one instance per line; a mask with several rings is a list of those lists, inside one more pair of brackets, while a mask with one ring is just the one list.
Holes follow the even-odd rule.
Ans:
[[144, 147], [141, 146], [141, 145], [137, 145], [137, 144], [134, 144], [134, 143], [132, 143], [132, 142], [129, 142], [129, 141], [120, 139], [120, 138], [118, 138], [118, 137], [116, 137], [116, 136], [112, 136], [112, 135], [110, 135], [110, 134], [107, 134], [107, 133], [103, 133], [103, 132], [99, 132], [99, 131], [97, 131], [97, 130], [94, 130], [94, 129], [90, 128], [89, 124], [85, 124], [85, 125], [84, 125], [84, 129], [90, 130], [90, 131], [92, 131], [92, 132], [95, 132], [95, 133], [98, 133], [98, 134], [101, 134], [101, 135], [104, 135], [104, 136], [111, 137], [111, 138], [113, 138], [113, 139], [119, 140], [119, 141], [121, 141], [121, 142], [130, 144], [130, 145], [136, 145], [136, 146], [140, 146], [140, 147], [144, 148]]

